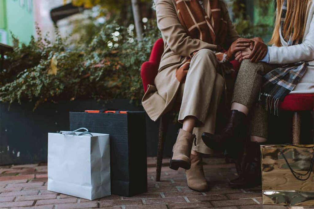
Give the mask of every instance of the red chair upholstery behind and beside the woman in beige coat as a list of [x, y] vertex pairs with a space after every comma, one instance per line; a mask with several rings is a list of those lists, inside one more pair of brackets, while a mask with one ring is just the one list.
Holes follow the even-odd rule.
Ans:
[[[149, 61], [146, 61], [142, 64], [141, 77], [145, 92], [147, 91], [147, 85], [154, 85], [155, 77], [158, 72], [158, 67], [163, 52], [164, 41], [162, 39], [158, 39], [153, 46]], [[237, 60], [232, 60], [230, 63], [233, 65], [233, 69], [235, 70], [232, 76], [236, 76], [236, 72], [238, 72], [240, 68], [240, 63]]]

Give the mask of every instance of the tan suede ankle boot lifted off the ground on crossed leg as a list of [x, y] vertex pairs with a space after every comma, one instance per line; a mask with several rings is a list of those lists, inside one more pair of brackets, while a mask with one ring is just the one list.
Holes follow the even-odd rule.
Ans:
[[191, 149], [195, 135], [183, 129], [179, 129], [178, 137], [172, 149], [172, 158], [170, 160], [170, 168], [178, 170], [179, 167], [190, 169], [191, 167]]

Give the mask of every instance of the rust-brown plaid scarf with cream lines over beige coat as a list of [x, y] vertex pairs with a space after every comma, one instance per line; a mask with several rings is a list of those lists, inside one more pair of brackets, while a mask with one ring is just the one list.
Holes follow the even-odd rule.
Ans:
[[[200, 39], [209, 44], [221, 45], [227, 35], [227, 22], [223, 19], [221, 8], [224, 4], [219, 0], [208, 0], [211, 16], [208, 17], [198, 0], [176, 0], [176, 8], [181, 25], [193, 39]], [[221, 47], [219, 47], [221, 48]], [[176, 78], [185, 82], [187, 71], [193, 55], [187, 57], [176, 70]]]

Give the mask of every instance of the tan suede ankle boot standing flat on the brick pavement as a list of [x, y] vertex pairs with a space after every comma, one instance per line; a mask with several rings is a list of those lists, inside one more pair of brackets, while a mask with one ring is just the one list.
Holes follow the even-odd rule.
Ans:
[[191, 154], [191, 168], [186, 170], [187, 186], [195, 191], [207, 191], [208, 183], [204, 175], [202, 155]]

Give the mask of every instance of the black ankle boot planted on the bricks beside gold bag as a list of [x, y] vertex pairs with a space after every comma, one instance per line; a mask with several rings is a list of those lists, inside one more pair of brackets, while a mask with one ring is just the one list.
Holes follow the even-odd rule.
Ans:
[[261, 143], [248, 142], [246, 156], [241, 163], [242, 173], [229, 182], [232, 188], [253, 188], [262, 184], [261, 176]]

